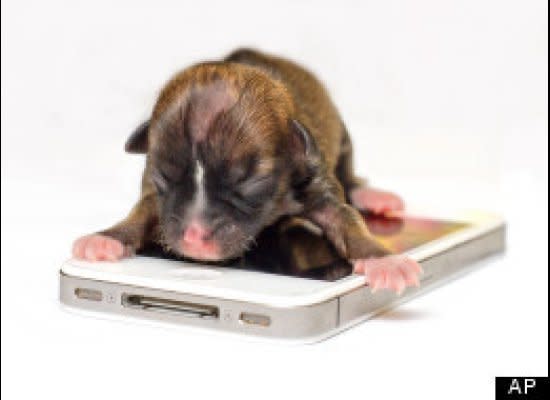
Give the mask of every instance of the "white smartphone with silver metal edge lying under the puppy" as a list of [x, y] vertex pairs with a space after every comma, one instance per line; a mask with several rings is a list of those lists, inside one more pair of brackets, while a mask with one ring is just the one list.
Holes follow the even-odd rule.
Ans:
[[71, 259], [60, 269], [60, 300], [81, 310], [300, 342], [315, 342], [387, 311], [472, 269], [505, 248], [504, 220], [487, 213], [381, 218], [370, 231], [424, 269], [401, 296], [372, 293], [314, 230], [265, 235], [227, 265], [175, 259], [158, 249], [118, 262]]

